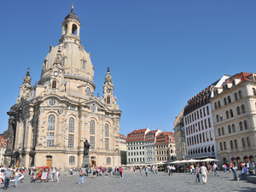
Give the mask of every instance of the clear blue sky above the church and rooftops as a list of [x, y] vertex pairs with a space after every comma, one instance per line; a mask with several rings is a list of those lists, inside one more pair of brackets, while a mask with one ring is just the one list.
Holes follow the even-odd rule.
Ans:
[[172, 131], [188, 100], [224, 74], [255, 73], [256, 1], [4, 1], [1, 3], [0, 132], [31, 68], [40, 79], [49, 46], [71, 10], [91, 53], [96, 93], [108, 66], [122, 110], [120, 133]]

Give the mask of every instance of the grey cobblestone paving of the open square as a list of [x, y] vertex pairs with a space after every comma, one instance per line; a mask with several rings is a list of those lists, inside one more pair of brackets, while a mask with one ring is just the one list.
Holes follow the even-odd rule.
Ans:
[[[49, 183], [30, 183], [29, 178], [25, 177], [24, 183], [18, 183], [15, 189], [15, 183], [9, 184], [8, 191], [256, 191], [256, 184], [247, 183], [247, 181], [233, 181], [233, 174], [229, 172], [219, 172], [219, 177], [210, 174], [207, 177], [207, 184], [195, 183], [195, 176], [189, 173], [175, 173], [168, 176], [166, 172], [152, 174], [145, 172], [140, 175], [139, 171], [124, 171], [124, 177], [119, 176], [100, 176], [96, 178], [84, 177], [84, 184], [79, 184], [79, 175], [67, 175], [67, 172], [61, 172], [60, 182]], [[3, 191], [3, 184], [0, 186]]]

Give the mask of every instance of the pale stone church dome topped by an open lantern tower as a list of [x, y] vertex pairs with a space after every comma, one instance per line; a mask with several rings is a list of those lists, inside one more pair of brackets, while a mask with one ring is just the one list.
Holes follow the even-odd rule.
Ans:
[[56, 47], [49, 47], [42, 67], [41, 80], [48, 79], [52, 73], [57, 55], [61, 56], [64, 78], [79, 79], [93, 84], [94, 67], [90, 61], [90, 53], [84, 50], [80, 42], [79, 31], [81, 23], [79, 17], [73, 13], [65, 17], [61, 23], [62, 35]]

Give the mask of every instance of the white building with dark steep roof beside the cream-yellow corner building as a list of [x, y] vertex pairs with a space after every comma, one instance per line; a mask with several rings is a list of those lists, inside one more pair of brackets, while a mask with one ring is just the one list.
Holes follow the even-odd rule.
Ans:
[[212, 119], [212, 89], [220, 86], [230, 76], [208, 86], [191, 98], [184, 108], [185, 137], [187, 155], [185, 159], [217, 158], [217, 148]]

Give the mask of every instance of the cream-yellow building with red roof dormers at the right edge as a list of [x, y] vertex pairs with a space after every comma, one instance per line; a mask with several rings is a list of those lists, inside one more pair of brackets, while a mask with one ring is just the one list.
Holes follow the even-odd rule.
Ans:
[[237, 73], [213, 89], [212, 115], [220, 163], [256, 162], [256, 74]]

